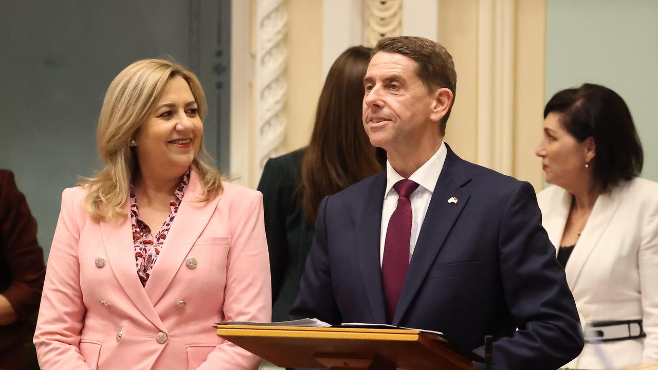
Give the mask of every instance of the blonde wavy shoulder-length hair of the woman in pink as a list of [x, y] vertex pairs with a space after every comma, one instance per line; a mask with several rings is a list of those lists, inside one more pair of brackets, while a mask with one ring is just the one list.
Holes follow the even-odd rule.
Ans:
[[[96, 133], [98, 153], [105, 168], [96, 177], [84, 178], [88, 188], [84, 207], [94, 219], [114, 221], [126, 217], [122, 206], [128, 200], [130, 183], [139, 174], [136, 154], [130, 140], [153, 109], [167, 82], [174, 76], [184, 78], [197, 102], [199, 117], [207, 114], [205, 93], [197, 76], [184, 66], [163, 59], [143, 59], [122, 70], [105, 93]], [[213, 160], [203, 147], [192, 160], [199, 174], [204, 196], [213, 199], [222, 191], [222, 179]]]

